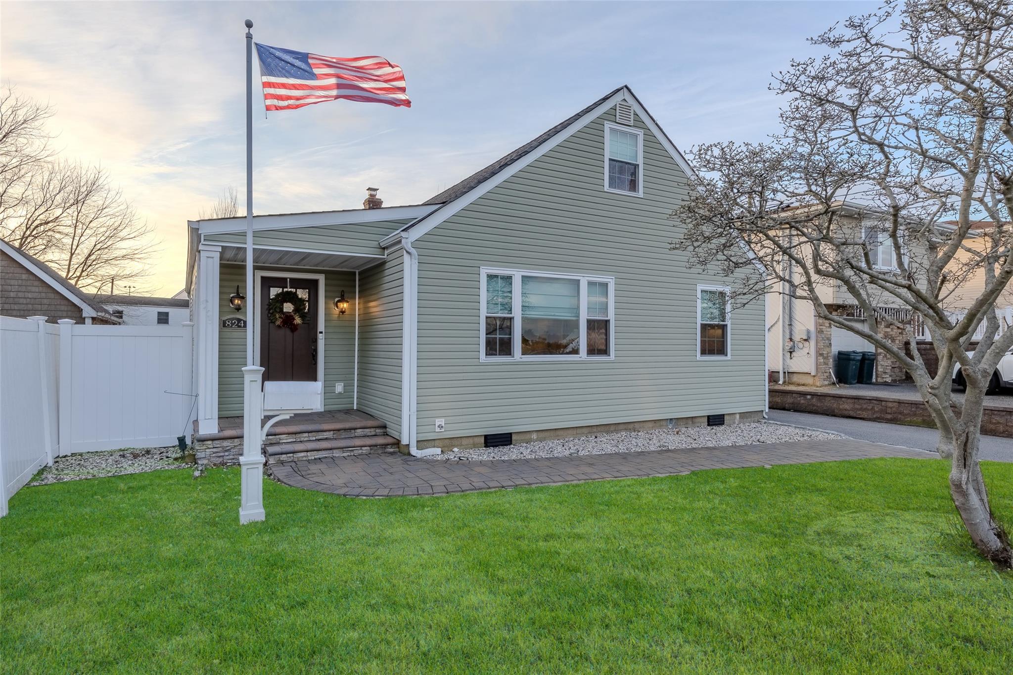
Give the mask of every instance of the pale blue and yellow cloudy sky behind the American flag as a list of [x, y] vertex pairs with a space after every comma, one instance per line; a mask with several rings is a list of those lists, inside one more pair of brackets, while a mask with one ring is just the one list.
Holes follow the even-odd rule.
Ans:
[[[49, 101], [66, 159], [101, 164], [154, 229], [144, 290], [184, 284], [186, 221], [245, 204], [245, 28], [265, 45], [382, 56], [411, 108], [334, 101], [265, 113], [253, 213], [411, 204], [626, 84], [675, 144], [777, 131], [771, 73], [875, 3], [138, 2], [0, 5], [0, 78]], [[254, 71], [255, 74], [255, 71]]]

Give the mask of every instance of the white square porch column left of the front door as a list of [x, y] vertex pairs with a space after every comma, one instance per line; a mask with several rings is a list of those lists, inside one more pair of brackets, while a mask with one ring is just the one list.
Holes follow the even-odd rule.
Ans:
[[198, 433], [218, 431], [218, 292], [221, 246], [198, 247], [197, 407]]

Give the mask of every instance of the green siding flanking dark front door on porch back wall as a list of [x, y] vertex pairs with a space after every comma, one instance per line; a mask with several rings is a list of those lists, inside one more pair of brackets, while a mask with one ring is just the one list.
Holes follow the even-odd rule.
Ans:
[[[256, 266], [257, 271], [277, 271], [282, 276], [299, 276], [299, 271], [324, 274], [324, 410], [349, 410], [355, 396], [356, 375], [356, 273], [332, 270], [286, 270]], [[219, 285], [219, 316], [236, 316], [229, 307], [229, 296], [238, 284], [246, 286], [246, 268], [243, 265], [223, 263]], [[334, 309], [334, 299], [344, 290], [348, 311], [339, 315]], [[252, 293], [243, 291], [247, 301]], [[245, 317], [246, 311], [238, 313]], [[246, 331], [219, 328], [218, 334], [218, 414], [221, 417], [243, 414], [243, 373], [246, 365]], [[335, 394], [334, 385], [344, 384], [344, 393]]]

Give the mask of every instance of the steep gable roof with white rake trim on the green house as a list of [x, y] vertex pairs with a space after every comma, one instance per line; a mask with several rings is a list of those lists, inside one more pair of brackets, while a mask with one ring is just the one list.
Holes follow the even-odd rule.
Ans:
[[[426, 214], [400, 230], [387, 235], [380, 240], [380, 245], [390, 246], [402, 237], [407, 237], [409, 241], [418, 239], [461, 210], [461, 208], [565, 141], [577, 130], [582, 129], [593, 119], [597, 118], [608, 107], [621, 100], [627, 101], [633, 107], [637, 116], [640, 117], [640, 121], [654, 135], [654, 138], [657, 139], [658, 143], [668, 151], [669, 155], [683, 169], [686, 175], [695, 176], [696, 174], [692, 167], [690, 167], [689, 162], [686, 161], [683, 154], [672, 143], [672, 139], [658, 126], [657, 120], [647, 112], [633, 91], [628, 86], [623, 85], [618, 89], [612, 90], [579, 112], [570, 115], [544, 134], [532, 139], [514, 152], [500, 157], [484, 169], [476, 171], [456, 185], [437, 194], [425, 202], [427, 204], [440, 204], [433, 213]], [[441, 199], [444, 201], [441, 202]]]

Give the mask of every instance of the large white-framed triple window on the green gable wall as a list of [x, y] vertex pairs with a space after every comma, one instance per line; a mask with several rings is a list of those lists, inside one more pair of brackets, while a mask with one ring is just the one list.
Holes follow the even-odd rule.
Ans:
[[482, 267], [479, 359], [614, 358], [615, 279]]

